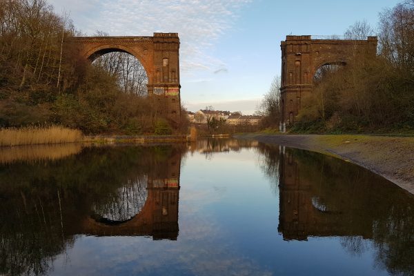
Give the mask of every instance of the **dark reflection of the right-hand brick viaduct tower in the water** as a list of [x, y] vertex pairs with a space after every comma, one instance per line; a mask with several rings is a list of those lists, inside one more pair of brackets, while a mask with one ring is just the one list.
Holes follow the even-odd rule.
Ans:
[[[277, 227], [279, 233], [282, 233], [284, 239], [297, 240], [307, 240], [309, 236], [360, 235], [364, 238], [371, 238], [371, 221], [367, 222], [367, 227], [360, 227], [357, 219], [355, 222], [350, 221], [349, 217], [353, 217], [353, 211], [355, 211], [349, 208], [350, 206], [355, 208], [353, 203], [337, 199], [339, 203], [333, 206], [326, 204], [324, 197], [319, 196], [320, 193], [324, 195], [324, 192], [328, 190], [338, 193], [340, 197], [342, 195], [336, 190], [338, 186], [347, 189], [349, 185], [348, 180], [339, 181], [335, 185], [325, 184], [329, 183], [326, 181], [328, 175], [324, 175], [324, 170], [319, 167], [328, 164], [328, 160], [324, 161], [315, 157], [317, 157], [316, 153], [293, 148], [286, 148], [286, 151], [280, 154], [279, 226]], [[333, 161], [342, 162], [336, 159]], [[332, 173], [332, 170], [330, 172]], [[336, 172], [334, 174], [337, 175]], [[353, 188], [349, 189], [353, 190]], [[354, 195], [354, 193], [350, 194]], [[361, 201], [359, 203], [357, 208], [365, 208], [365, 204], [361, 204]], [[354, 228], [355, 224], [357, 228]]]

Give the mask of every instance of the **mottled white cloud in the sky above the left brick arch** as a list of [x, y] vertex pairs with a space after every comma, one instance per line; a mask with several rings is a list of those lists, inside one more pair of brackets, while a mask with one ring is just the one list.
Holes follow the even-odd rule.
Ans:
[[250, 0], [52, 0], [57, 12], [65, 9], [75, 24], [93, 34], [152, 36], [153, 32], [178, 32], [181, 70], [225, 68], [208, 50], [232, 28], [240, 8]]

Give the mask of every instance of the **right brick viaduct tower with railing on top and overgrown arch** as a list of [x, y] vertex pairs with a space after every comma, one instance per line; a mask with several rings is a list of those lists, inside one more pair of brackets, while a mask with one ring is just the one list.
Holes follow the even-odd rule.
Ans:
[[312, 39], [310, 35], [288, 35], [282, 49], [281, 128], [295, 121], [301, 99], [313, 90], [313, 76], [318, 68], [346, 65], [360, 55], [375, 57], [377, 37], [366, 40]]

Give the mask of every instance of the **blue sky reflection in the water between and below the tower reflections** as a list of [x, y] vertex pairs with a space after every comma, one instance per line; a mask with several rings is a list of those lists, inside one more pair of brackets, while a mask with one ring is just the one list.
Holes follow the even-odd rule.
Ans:
[[[286, 242], [278, 198], [253, 150], [188, 156], [181, 168], [177, 241], [76, 239], [51, 275], [386, 275], [373, 255], [349, 254], [342, 239]], [[381, 274], [383, 273], [383, 274]]]

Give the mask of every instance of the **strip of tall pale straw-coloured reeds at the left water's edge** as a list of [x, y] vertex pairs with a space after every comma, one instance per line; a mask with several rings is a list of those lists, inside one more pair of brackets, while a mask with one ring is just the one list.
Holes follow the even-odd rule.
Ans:
[[71, 143], [81, 139], [80, 130], [63, 126], [0, 129], [0, 146]]

